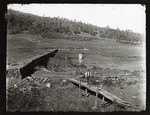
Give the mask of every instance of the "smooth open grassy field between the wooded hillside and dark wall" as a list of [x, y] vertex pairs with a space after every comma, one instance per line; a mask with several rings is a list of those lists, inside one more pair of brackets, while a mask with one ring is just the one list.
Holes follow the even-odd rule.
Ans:
[[70, 41], [41, 38], [40, 36], [18, 34], [7, 37], [8, 63], [18, 62], [50, 52], [53, 49], [83, 49], [87, 48], [84, 63], [103, 68], [122, 70], [143, 70], [144, 47], [116, 42], [111, 39], [92, 41]]

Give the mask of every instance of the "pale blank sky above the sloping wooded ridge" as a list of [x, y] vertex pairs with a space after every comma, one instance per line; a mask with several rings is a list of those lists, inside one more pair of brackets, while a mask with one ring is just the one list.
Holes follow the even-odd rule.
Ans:
[[145, 34], [146, 7], [140, 4], [9, 4], [8, 9], [45, 17], [62, 17], [99, 27]]

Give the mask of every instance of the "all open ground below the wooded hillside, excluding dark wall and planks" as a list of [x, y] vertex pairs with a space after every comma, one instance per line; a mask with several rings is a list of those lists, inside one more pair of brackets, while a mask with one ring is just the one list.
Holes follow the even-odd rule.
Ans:
[[[18, 42], [19, 51], [15, 51], [14, 49], [18, 48], [14, 47], [16, 42], [12, 42], [13, 37], [8, 37], [8, 64], [12, 68], [6, 72], [8, 111], [110, 112], [145, 110], [146, 78], [142, 68], [143, 63], [141, 63], [143, 58], [140, 54], [141, 50], [139, 50], [141, 46], [122, 45], [111, 40], [107, 41], [107, 39], [100, 40], [101, 42], [62, 40], [60, 43], [60, 40], [41, 40], [40, 37], [37, 37], [41, 40], [40, 43], [37, 44], [30, 40], [27, 45], [29, 40], [24, 39], [20, 42], [25, 42], [26, 45], [22, 46]], [[20, 35], [17, 37], [19, 39]], [[25, 38], [29, 37], [31, 36]], [[16, 39], [16, 37], [14, 38]], [[22, 47], [25, 49], [28, 47], [32, 51], [24, 52]], [[119, 49], [116, 49], [118, 47]], [[33, 56], [42, 55], [42, 52], [49, 52], [56, 48], [60, 50], [54, 58], [49, 59], [47, 70], [39, 67], [32, 78], [27, 77], [21, 80], [19, 69], [15, 68], [30, 62], [29, 60], [32, 60]], [[87, 56], [83, 64], [79, 66], [78, 53], [81, 50], [87, 53]], [[83, 75], [89, 66], [93, 68], [91, 71], [94, 75], [91, 84], [96, 85], [95, 81], [99, 80], [103, 89], [132, 103], [138, 109], [122, 108], [101, 99], [98, 99], [97, 109], [92, 109], [95, 101], [94, 95], [86, 97], [85, 91], [82, 90], [82, 96], [79, 97], [77, 86], [66, 81], [65, 78], [54, 78], [54, 76], [61, 77], [64, 73], [76, 76]]]

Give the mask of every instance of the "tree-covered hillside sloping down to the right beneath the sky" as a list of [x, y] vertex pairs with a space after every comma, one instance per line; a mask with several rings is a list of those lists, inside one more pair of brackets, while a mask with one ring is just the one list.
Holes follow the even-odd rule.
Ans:
[[[9, 9], [7, 30], [10, 34], [27, 31], [50, 39], [92, 40], [97, 38], [117, 39], [117, 41], [142, 42], [143, 35], [130, 30], [97, 27], [59, 17], [40, 17]], [[88, 36], [87, 36], [88, 35]]]

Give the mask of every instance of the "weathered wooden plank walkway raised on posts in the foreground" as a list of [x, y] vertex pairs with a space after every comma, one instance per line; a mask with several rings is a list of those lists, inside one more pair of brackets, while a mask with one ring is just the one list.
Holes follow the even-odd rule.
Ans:
[[[79, 85], [79, 81], [76, 80], [76, 79], [68, 79], [70, 82], [72, 83], [75, 83], [77, 85]], [[84, 87], [84, 88], [87, 88], [88, 90], [92, 91], [92, 92], [95, 92], [97, 91], [97, 87], [93, 86], [93, 85], [90, 85], [90, 87], [87, 85], [86, 82], [81, 82], [81, 87]], [[110, 100], [111, 102], [113, 103], [117, 103], [117, 104], [120, 104], [120, 105], [123, 105], [123, 106], [128, 106], [128, 107], [131, 107], [132, 104], [129, 103], [129, 102], [126, 102], [126, 101], [123, 101], [122, 99], [120, 99], [119, 97], [107, 92], [106, 90], [102, 89], [102, 88], [99, 88], [98, 90], [98, 95], [101, 95], [102, 97]]]

